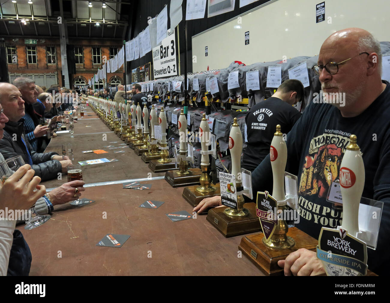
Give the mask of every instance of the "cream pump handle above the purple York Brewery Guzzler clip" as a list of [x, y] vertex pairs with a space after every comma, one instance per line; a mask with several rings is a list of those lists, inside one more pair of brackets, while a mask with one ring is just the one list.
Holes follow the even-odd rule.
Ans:
[[278, 205], [280, 204], [279, 202], [285, 201], [284, 171], [287, 163], [287, 145], [283, 140], [283, 133], [280, 131], [280, 128], [278, 124], [271, 142], [271, 147], [269, 148], [269, 158], [271, 159], [273, 175], [272, 197], [278, 201]]

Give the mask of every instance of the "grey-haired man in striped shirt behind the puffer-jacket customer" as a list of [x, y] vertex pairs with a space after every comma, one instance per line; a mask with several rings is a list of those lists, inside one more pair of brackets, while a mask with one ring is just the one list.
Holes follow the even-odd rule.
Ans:
[[38, 92], [35, 89], [35, 82], [34, 80], [27, 78], [27, 77], [18, 77], [13, 82], [13, 85], [15, 85], [21, 92], [23, 100], [25, 101], [25, 133], [28, 142], [30, 142], [31, 147], [34, 151], [37, 151], [38, 144], [37, 144], [37, 138], [40, 138], [47, 134], [48, 127], [47, 126], [40, 126], [39, 120], [37, 116], [35, 115], [35, 110], [33, 105], [37, 102], [37, 96]]

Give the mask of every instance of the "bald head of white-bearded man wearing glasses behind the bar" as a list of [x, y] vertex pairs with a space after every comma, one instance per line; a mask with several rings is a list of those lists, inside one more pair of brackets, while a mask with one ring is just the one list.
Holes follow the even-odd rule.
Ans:
[[381, 56], [379, 42], [362, 28], [346, 28], [326, 38], [318, 56], [324, 102], [338, 107], [344, 117], [362, 113], [385, 89]]

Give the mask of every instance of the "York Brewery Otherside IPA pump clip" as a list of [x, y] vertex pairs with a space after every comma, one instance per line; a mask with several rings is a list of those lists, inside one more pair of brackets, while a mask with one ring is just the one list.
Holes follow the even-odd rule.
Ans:
[[367, 273], [366, 244], [342, 228], [321, 229], [317, 258], [328, 276], [365, 276]]

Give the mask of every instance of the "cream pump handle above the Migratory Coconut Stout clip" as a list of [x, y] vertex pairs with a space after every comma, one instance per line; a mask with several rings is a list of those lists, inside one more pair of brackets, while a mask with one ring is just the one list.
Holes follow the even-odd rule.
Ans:
[[234, 118], [232, 129], [229, 135], [229, 149], [232, 156], [232, 175], [236, 177], [236, 183], [242, 183], [241, 180], [241, 152], [243, 149], [243, 136], [241, 129]]

